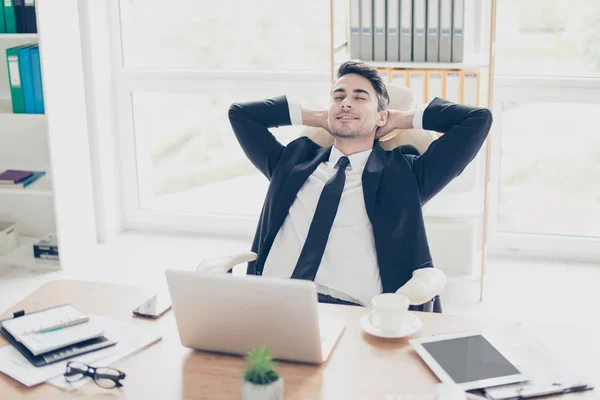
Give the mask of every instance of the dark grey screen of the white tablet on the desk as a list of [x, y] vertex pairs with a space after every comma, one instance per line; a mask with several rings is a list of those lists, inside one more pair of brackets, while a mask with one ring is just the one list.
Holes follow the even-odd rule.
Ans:
[[458, 384], [521, 373], [481, 335], [422, 343], [422, 346]]

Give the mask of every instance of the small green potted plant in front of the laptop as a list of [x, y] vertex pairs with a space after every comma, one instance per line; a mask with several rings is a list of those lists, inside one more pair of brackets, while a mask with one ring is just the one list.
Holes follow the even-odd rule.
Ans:
[[266, 346], [246, 354], [248, 366], [242, 380], [242, 400], [282, 400], [283, 378], [275, 372], [276, 363]]

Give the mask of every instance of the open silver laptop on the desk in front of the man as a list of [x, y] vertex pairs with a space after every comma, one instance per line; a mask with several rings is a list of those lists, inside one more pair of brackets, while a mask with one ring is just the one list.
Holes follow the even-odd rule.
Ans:
[[320, 364], [344, 321], [320, 319], [315, 284], [263, 276], [167, 270], [181, 344], [245, 354], [267, 345], [278, 360]]

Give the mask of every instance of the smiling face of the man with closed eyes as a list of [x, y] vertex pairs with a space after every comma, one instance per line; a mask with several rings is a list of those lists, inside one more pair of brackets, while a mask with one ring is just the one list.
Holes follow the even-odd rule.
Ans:
[[379, 120], [377, 94], [367, 78], [347, 74], [334, 82], [329, 105], [329, 128], [334, 137], [374, 137]]

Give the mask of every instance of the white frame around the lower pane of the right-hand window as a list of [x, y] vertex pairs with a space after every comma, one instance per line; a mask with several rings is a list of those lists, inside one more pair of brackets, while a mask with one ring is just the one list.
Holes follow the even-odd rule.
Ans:
[[[491, 131], [492, 155], [488, 183], [488, 250], [494, 253], [522, 252], [597, 259], [600, 257], [600, 239], [497, 231], [502, 103], [507, 101], [600, 104], [600, 79], [495, 76], [492, 103], [495, 118]], [[568, 116], [565, 115], [565, 118]]]

